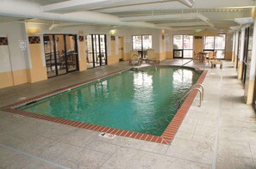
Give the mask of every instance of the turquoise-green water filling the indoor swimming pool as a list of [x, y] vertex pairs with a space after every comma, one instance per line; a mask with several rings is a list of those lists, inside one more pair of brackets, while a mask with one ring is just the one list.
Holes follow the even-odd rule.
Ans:
[[161, 136], [200, 75], [172, 67], [128, 70], [19, 109]]

